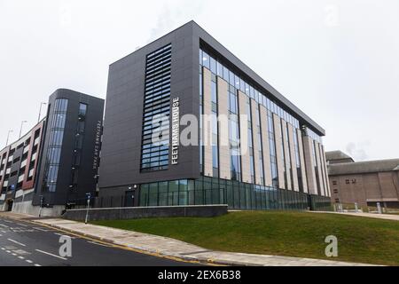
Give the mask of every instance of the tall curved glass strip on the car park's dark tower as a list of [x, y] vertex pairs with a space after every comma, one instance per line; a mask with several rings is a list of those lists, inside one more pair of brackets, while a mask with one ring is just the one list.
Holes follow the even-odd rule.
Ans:
[[44, 165], [43, 191], [55, 192], [59, 174], [59, 159], [64, 138], [67, 99], [56, 99], [51, 119], [49, 148]]

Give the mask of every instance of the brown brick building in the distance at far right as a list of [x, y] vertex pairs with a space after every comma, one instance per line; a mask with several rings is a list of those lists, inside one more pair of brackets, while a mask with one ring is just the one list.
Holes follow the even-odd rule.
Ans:
[[399, 208], [399, 159], [354, 162], [340, 151], [325, 157], [332, 202]]

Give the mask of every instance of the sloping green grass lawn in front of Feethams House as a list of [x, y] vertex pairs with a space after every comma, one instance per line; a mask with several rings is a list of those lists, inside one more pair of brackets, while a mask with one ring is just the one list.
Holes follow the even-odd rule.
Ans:
[[[222, 217], [97, 221], [214, 250], [399, 265], [399, 222], [328, 213], [236, 211]], [[338, 257], [325, 256], [325, 237], [338, 238]]]

